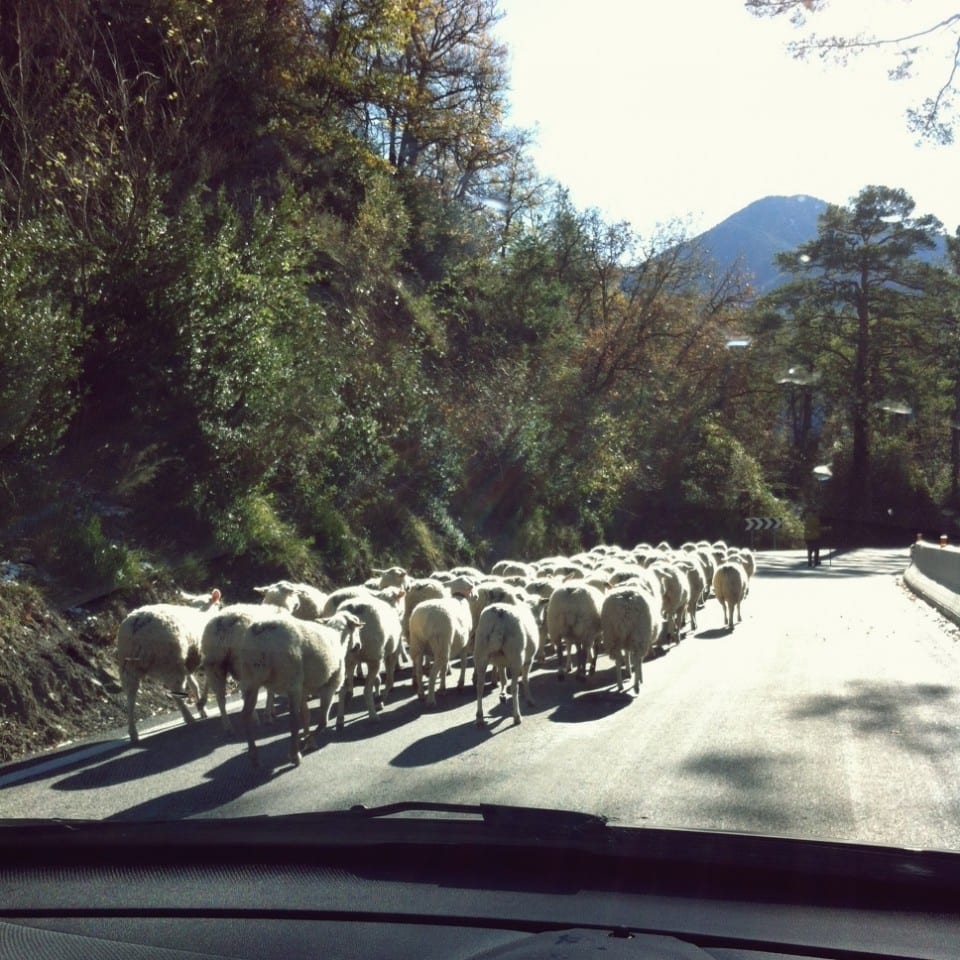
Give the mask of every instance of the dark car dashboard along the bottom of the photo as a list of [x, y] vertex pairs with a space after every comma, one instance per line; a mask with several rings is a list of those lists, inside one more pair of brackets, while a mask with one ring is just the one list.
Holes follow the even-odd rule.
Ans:
[[0, 956], [960, 956], [952, 854], [508, 821], [4, 825]]

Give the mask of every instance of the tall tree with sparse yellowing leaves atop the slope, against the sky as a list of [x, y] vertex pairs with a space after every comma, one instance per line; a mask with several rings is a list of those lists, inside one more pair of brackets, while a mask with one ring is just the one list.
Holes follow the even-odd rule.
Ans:
[[496, 0], [326, 0], [312, 15], [325, 86], [392, 168], [464, 199], [515, 153]]

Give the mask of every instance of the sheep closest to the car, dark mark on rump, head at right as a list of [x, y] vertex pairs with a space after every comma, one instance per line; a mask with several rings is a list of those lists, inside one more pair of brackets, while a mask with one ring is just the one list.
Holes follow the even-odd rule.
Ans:
[[[252, 716], [260, 688], [283, 693], [290, 702], [290, 762], [300, 765], [300, 726], [304, 748], [316, 744], [327, 725], [330, 704], [339, 691], [337, 726], [343, 725], [343, 681], [347, 652], [359, 649], [356, 631], [362, 626], [352, 614], [337, 613], [326, 620], [298, 620], [286, 614], [256, 620], [233, 655], [233, 670], [243, 694], [243, 724], [250, 761], [258, 766]], [[310, 732], [309, 699], [320, 698], [316, 730]]]

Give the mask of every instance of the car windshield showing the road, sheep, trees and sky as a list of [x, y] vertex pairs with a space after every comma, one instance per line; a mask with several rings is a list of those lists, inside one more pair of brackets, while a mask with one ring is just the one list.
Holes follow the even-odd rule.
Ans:
[[0, 816], [960, 847], [957, 14], [835, 6], [4, 4]]

